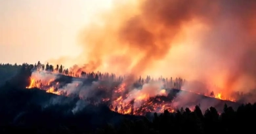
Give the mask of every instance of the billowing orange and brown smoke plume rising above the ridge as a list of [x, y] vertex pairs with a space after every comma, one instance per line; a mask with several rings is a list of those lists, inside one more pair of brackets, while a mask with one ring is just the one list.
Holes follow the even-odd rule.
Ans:
[[[256, 1], [114, 1], [79, 36], [75, 71], [181, 76], [255, 88]], [[75, 69], [78, 68], [79, 69]]]

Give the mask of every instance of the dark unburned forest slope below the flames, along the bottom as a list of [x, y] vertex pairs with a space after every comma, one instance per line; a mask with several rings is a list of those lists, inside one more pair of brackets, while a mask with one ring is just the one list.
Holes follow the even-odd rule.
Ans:
[[0, 65], [0, 133], [247, 133], [256, 124], [256, 103], [238, 109], [223, 105], [223, 111], [196, 106], [146, 116], [118, 114], [75, 96], [24, 88], [34, 67]]

